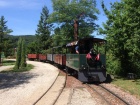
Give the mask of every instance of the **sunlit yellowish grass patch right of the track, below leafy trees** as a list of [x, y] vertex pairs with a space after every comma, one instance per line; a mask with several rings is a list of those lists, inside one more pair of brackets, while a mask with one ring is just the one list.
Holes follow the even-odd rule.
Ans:
[[129, 91], [132, 95], [140, 98], [140, 79], [128, 80], [125, 78], [116, 78], [112, 81], [112, 84], [115, 84], [123, 90]]

